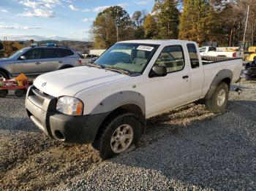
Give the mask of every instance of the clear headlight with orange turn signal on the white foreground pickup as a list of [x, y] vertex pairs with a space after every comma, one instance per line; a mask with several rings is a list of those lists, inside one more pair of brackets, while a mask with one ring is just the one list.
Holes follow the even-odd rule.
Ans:
[[80, 101], [78, 98], [63, 96], [58, 99], [56, 110], [63, 114], [82, 115], [83, 102]]

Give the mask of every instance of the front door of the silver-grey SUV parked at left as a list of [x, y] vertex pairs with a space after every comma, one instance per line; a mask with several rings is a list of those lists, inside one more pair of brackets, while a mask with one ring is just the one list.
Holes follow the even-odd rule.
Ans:
[[15, 62], [15, 74], [39, 74], [42, 73], [42, 49], [32, 48], [23, 54], [26, 59], [18, 58]]

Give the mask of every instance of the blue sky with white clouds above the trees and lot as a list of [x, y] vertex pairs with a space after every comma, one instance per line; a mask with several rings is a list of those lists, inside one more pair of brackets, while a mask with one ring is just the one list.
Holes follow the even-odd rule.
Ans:
[[89, 29], [103, 9], [119, 5], [130, 16], [151, 12], [154, 0], [0, 0], [0, 40], [89, 41]]

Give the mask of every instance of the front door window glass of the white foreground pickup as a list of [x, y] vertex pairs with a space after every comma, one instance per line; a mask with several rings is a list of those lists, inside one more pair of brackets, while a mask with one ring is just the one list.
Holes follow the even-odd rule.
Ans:
[[155, 65], [165, 66], [167, 68], [167, 73], [174, 71], [181, 71], [184, 69], [184, 53], [180, 45], [165, 47]]

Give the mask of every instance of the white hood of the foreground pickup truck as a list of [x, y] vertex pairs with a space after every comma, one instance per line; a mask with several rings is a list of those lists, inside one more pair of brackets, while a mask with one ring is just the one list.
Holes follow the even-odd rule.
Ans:
[[86, 90], [89, 87], [127, 77], [127, 75], [114, 71], [80, 66], [42, 74], [34, 80], [34, 86], [54, 97], [63, 95], [74, 96], [79, 91]]

